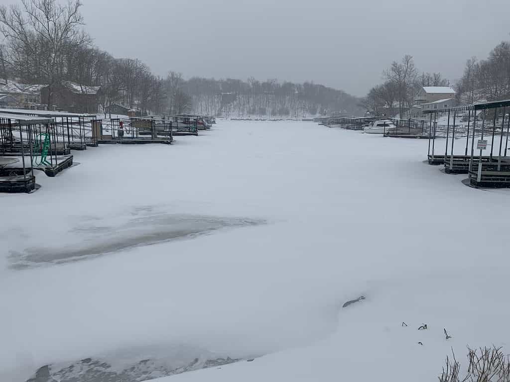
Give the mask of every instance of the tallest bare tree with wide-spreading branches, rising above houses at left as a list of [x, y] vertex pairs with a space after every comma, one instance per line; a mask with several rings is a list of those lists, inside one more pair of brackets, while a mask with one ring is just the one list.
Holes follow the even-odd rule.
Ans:
[[81, 29], [80, 0], [22, 0], [22, 8], [0, 7], [0, 31], [9, 47], [9, 60], [21, 77], [49, 86], [48, 107], [54, 87], [62, 82], [65, 58], [72, 48], [89, 45]]

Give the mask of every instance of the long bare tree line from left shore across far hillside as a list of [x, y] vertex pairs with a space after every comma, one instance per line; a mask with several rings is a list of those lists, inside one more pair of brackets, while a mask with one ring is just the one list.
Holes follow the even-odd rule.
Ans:
[[2, 79], [48, 86], [49, 107], [64, 81], [82, 86], [100, 86], [99, 103], [137, 108], [142, 113], [178, 114], [195, 112], [236, 116], [305, 116], [360, 111], [359, 99], [347, 93], [312, 83], [279, 84], [277, 80], [249, 78], [212, 79], [181, 73], [166, 77], [151, 73], [138, 59], [117, 59], [92, 45], [83, 30], [80, 0], [59, 4], [56, 0], [22, 0], [22, 6], [0, 6]]

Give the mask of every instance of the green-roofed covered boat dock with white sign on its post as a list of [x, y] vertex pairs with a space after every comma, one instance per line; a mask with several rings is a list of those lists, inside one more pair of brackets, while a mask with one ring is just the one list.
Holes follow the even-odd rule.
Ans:
[[[424, 112], [434, 127], [439, 115], [447, 120], [444, 140], [437, 140], [435, 128], [430, 132], [428, 162], [444, 165], [446, 173], [468, 174], [474, 187], [510, 187], [509, 112], [510, 100]], [[457, 121], [466, 118], [459, 133]]]

